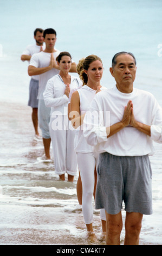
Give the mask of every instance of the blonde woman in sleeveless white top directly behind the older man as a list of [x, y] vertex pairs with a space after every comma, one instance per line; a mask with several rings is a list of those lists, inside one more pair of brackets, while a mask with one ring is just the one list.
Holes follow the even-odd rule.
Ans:
[[[95, 94], [102, 90], [100, 84], [103, 74], [102, 61], [95, 55], [90, 55], [85, 59], [83, 58], [77, 65], [77, 72], [83, 82], [83, 87], [72, 94], [72, 99], [70, 101], [70, 117], [72, 118], [72, 125], [75, 129], [80, 126], [75, 142], [75, 152], [82, 181], [83, 217], [87, 227], [88, 241], [93, 243], [97, 241], [93, 231], [92, 199], [93, 194], [95, 197], [95, 176], [96, 166], [98, 164], [98, 154], [95, 153], [92, 146], [87, 144], [86, 139], [83, 137], [82, 123], [90, 102], [94, 99]], [[105, 236], [106, 216], [104, 209], [100, 210], [100, 216], [102, 220], [103, 236]]]

